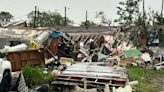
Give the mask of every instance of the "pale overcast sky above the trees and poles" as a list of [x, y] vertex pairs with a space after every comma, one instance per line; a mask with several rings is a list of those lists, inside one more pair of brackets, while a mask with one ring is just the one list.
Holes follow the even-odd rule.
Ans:
[[[76, 24], [85, 20], [85, 12], [88, 11], [88, 19], [95, 20], [96, 11], [104, 11], [110, 19], [118, 18], [116, 7], [123, 0], [0, 0], [0, 11], [8, 11], [16, 19], [24, 19], [34, 6], [40, 11], [58, 11], [64, 16], [64, 7], [67, 8], [67, 17]], [[142, 7], [142, 6], [141, 6]], [[161, 0], [145, 0], [145, 7], [161, 11]]]

